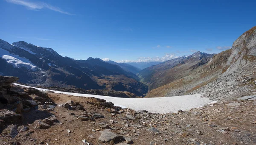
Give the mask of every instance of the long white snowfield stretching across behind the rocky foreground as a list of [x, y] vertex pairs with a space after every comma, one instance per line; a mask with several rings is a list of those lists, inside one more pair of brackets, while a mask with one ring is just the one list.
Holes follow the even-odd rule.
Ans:
[[[15, 83], [14, 83], [15, 84]], [[20, 84], [15, 84], [24, 86]], [[30, 86], [24, 86], [30, 87]], [[35, 87], [32, 87], [35, 88]], [[49, 89], [35, 88], [41, 91], [49, 91]], [[53, 90], [50, 90], [53, 91]], [[67, 95], [81, 96], [81, 97], [95, 97], [112, 102], [115, 106], [122, 106], [124, 108], [131, 108], [134, 110], [148, 110], [153, 113], [169, 113], [177, 112], [179, 109], [186, 111], [192, 108], [198, 108], [211, 103], [209, 98], [202, 98], [202, 94], [162, 97], [162, 98], [117, 98], [110, 96], [88, 95], [70, 92], [53, 91], [55, 93], [62, 93]]]

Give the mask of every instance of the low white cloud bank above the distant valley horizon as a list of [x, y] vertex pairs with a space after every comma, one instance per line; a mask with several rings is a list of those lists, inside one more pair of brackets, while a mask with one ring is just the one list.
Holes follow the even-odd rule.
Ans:
[[128, 62], [151, 62], [151, 61], [168, 61], [170, 59], [175, 59], [178, 58], [178, 56], [175, 56], [175, 54], [172, 53], [166, 53], [163, 57], [140, 57], [135, 61], [131, 60], [121, 60], [121, 61], [116, 61], [119, 63], [128, 63]]

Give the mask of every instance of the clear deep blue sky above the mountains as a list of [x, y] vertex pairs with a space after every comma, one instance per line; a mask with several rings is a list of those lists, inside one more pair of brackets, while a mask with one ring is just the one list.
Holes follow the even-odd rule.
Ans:
[[229, 49], [256, 25], [253, 0], [0, 0], [0, 39], [74, 59], [165, 61]]

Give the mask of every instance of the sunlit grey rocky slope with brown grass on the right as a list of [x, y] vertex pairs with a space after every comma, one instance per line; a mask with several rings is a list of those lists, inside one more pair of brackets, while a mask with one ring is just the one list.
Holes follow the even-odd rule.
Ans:
[[256, 27], [243, 33], [230, 50], [195, 67], [183, 78], [152, 89], [147, 97], [203, 93], [212, 100], [229, 100], [255, 95]]

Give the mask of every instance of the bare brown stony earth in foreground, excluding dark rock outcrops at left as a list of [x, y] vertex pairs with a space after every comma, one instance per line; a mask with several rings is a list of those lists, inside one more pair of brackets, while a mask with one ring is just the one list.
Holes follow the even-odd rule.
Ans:
[[[58, 105], [73, 100], [79, 102], [86, 111], [70, 110], [58, 105], [53, 110], [32, 110], [23, 114], [23, 123], [18, 126], [18, 130], [24, 125], [28, 126], [29, 130], [19, 131], [18, 135], [12, 139], [9, 133], [13, 125], [8, 125], [1, 131], [1, 145], [11, 145], [11, 142], [20, 142], [21, 145], [81, 145], [83, 139], [93, 145], [113, 145], [125, 142], [122, 138], [105, 143], [99, 141], [100, 131], [106, 130], [108, 125], [111, 132], [118, 136], [129, 137], [134, 145], [256, 144], [256, 124], [253, 124], [256, 123], [256, 100], [230, 100], [191, 109], [188, 112], [154, 114], [124, 109], [124, 112], [119, 114], [106, 111], [101, 99], [52, 92], [47, 92], [47, 94]], [[102, 114], [104, 118], [93, 117], [96, 112]], [[82, 121], [81, 118], [70, 113], [80, 116], [86, 114], [93, 117], [95, 121]], [[47, 118], [51, 114], [56, 116], [59, 123], [51, 125], [48, 129], [40, 129], [37, 119]], [[134, 118], [126, 116], [127, 114]], [[112, 124], [110, 120], [114, 120], [116, 123]], [[126, 123], [129, 127], [125, 126]], [[147, 129], [151, 126], [160, 132], [148, 131]], [[68, 133], [68, 129], [70, 133]]]

